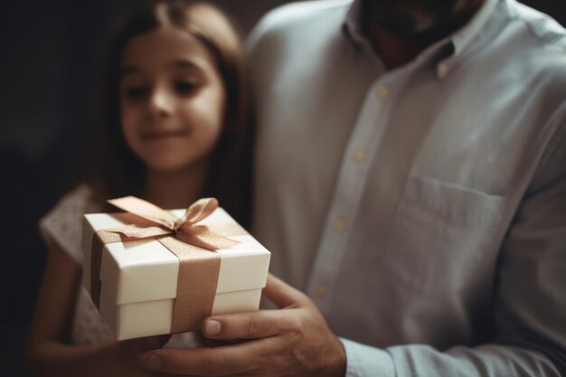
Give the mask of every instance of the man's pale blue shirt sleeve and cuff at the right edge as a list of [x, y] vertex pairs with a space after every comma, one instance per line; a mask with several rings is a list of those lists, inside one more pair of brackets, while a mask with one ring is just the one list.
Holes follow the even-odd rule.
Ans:
[[346, 376], [566, 375], [566, 121], [542, 156], [502, 246], [494, 316], [495, 339], [476, 347], [379, 350], [343, 339]]

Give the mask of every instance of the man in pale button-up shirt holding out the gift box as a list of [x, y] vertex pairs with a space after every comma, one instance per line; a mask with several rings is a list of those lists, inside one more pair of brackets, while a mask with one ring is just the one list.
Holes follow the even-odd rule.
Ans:
[[[288, 5], [250, 38], [255, 230], [281, 310], [192, 375], [566, 373], [566, 37], [514, 0]], [[336, 338], [340, 336], [340, 340]]]

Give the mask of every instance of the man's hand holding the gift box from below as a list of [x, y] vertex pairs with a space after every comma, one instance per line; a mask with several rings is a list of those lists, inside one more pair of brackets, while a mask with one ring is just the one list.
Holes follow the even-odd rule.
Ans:
[[241, 344], [143, 353], [159, 372], [199, 376], [336, 376], [345, 373], [344, 346], [310, 299], [269, 275], [263, 293], [280, 310], [211, 316], [203, 335]]

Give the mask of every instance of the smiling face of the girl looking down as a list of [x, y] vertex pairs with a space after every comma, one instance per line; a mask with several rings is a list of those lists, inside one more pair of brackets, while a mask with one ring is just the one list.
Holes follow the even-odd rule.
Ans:
[[127, 42], [120, 71], [122, 131], [148, 169], [205, 161], [222, 132], [225, 91], [203, 44], [159, 27]]

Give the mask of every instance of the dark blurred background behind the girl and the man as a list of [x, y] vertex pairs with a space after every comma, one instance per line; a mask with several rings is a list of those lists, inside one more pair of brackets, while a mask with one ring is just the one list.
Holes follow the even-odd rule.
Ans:
[[[524, 0], [566, 25], [566, 4]], [[78, 183], [99, 121], [106, 46], [148, 0], [0, 2], [0, 376], [21, 375], [46, 250], [37, 221]], [[244, 36], [284, 0], [217, 0]]]

